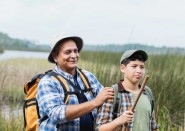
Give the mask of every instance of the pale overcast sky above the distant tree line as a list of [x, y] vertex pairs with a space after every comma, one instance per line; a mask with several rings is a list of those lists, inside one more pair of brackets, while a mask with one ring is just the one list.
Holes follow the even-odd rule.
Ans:
[[185, 48], [185, 0], [1, 0], [0, 32], [49, 44], [58, 32], [85, 44]]

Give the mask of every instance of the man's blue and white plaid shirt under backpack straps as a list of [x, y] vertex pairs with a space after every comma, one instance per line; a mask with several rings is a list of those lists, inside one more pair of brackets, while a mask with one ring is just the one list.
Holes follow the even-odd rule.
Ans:
[[[66, 79], [70, 80], [73, 84], [74, 78], [72, 75], [62, 71], [57, 66], [55, 70], [57, 73], [61, 74]], [[83, 73], [88, 78], [92, 91], [94, 92], [94, 97], [100, 92], [103, 86], [98, 82], [95, 76], [85, 70], [82, 70]], [[85, 89], [85, 85], [82, 82], [79, 74], [77, 73], [77, 81], [81, 89]], [[73, 87], [69, 85], [70, 91], [74, 91]], [[85, 96], [88, 100], [94, 99], [90, 92], [85, 92]], [[39, 130], [41, 131], [80, 131], [80, 118], [76, 118], [71, 121], [66, 120], [66, 106], [64, 104], [64, 90], [61, 87], [61, 84], [51, 78], [50, 76], [44, 76], [38, 85], [38, 92], [37, 92], [37, 101], [39, 103], [39, 113], [41, 118], [44, 116], [48, 116], [49, 118], [40, 123]], [[68, 104], [79, 104], [77, 96], [71, 95], [68, 101]], [[92, 111], [92, 115], [94, 118], [97, 116], [97, 109]], [[62, 124], [59, 129], [56, 128], [57, 124]]]

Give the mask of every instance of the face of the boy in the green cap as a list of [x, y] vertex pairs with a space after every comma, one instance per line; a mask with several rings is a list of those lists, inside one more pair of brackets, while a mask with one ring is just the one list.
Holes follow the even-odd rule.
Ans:
[[133, 84], [138, 83], [145, 74], [145, 63], [143, 61], [130, 61], [126, 66], [120, 65], [121, 72], [124, 74], [124, 80]]

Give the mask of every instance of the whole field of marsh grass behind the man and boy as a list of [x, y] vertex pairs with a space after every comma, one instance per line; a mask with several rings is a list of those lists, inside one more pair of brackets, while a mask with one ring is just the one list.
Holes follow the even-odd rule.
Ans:
[[[104, 86], [117, 83], [122, 74], [119, 70], [120, 53], [82, 52], [78, 67], [89, 70]], [[146, 62], [147, 85], [152, 89], [160, 131], [185, 130], [185, 56], [150, 55]], [[20, 105], [24, 99], [23, 85], [35, 74], [52, 69], [43, 59], [10, 59], [0, 61], [0, 105]], [[1, 109], [1, 111], [3, 111]], [[0, 115], [0, 129], [20, 131], [23, 117], [5, 120]]]

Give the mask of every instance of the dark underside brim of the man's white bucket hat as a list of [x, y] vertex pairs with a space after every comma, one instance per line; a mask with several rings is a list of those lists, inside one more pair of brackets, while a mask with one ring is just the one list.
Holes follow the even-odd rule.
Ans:
[[55, 50], [55, 48], [56, 48], [56, 46], [57, 46], [58, 44], [61, 44], [62, 41], [65, 41], [65, 40], [68, 40], [68, 39], [69, 39], [69, 40], [73, 40], [73, 41], [76, 43], [76, 46], [77, 46], [77, 48], [78, 48], [78, 52], [80, 52], [80, 51], [82, 50], [82, 48], [83, 48], [83, 40], [82, 40], [82, 38], [77, 37], [77, 36], [65, 37], [65, 38], [59, 40], [59, 41], [55, 44], [55, 46], [52, 48], [52, 50], [50, 51], [49, 56], [48, 56], [48, 61], [49, 61], [49, 62], [51, 62], [51, 63], [56, 63], [56, 62], [54, 61], [54, 59], [53, 59], [52, 52]]

